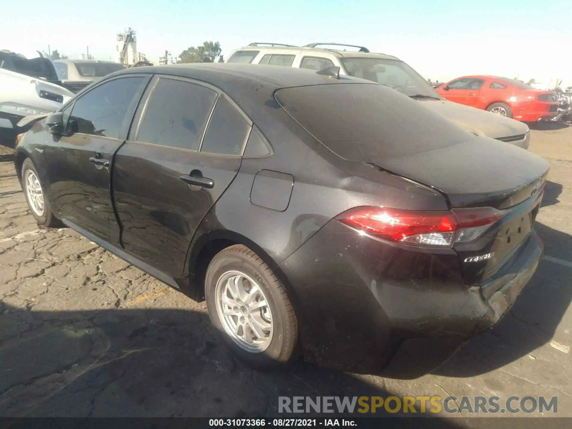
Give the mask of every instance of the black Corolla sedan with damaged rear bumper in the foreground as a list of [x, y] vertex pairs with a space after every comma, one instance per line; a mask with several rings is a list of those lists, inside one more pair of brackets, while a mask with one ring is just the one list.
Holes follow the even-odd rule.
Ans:
[[542, 256], [547, 162], [333, 69], [137, 67], [34, 120], [15, 166], [38, 223], [205, 299], [256, 367], [424, 374]]

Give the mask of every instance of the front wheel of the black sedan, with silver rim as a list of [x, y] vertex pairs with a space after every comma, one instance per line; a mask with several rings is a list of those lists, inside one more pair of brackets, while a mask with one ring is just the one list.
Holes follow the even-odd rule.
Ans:
[[61, 225], [61, 222], [51, 211], [50, 202], [39, 181], [39, 174], [30, 158], [26, 158], [22, 164], [22, 190], [26, 196], [30, 212], [39, 225], [50, 228]]

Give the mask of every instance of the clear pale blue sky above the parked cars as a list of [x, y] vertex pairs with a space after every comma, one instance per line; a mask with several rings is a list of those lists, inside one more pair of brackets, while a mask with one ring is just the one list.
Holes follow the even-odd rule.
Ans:
[[572, 85], [571, 0], [0, 0], [0, 49], [114, 58], [137, 31], [150, 61], [205, 40], [223, 54], [250, 42], [343, 42], [396, 55], [426, 78], [495, 74]]

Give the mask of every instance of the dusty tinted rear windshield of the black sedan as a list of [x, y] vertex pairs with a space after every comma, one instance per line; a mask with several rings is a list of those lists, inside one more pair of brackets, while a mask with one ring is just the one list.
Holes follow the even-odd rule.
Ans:
[[276, 101], [313, 137], [353, 161], [407, 156], [467, 141], [471, 134], [385, 85], [284, 88]]

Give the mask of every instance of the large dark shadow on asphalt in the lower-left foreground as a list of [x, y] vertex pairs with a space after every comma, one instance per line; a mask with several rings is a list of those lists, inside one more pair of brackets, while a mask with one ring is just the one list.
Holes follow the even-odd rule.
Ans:
[[[394, 396], [351, 374], [303, 362], [288, 370], [253, 370], [229, 355], [200, 311], [0, 310], [2, 417], [335, 418], [349, 414], [283, 414], [278, 398]], [[356, 411], [351, 416], [403, 415]], [[426, 419], [416, 420], [407, 426], [427, 427]], [[435, 427], [459, 427], [456, 419], [429, 420]]]

